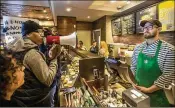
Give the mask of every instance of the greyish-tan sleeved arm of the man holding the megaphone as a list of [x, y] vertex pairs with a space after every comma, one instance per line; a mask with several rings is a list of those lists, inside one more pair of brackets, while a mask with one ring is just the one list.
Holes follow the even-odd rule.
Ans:
[[25, 58], [25, 64], [41, 83], [46, 86], [52, 84], [58, 68], [57, 59], [53, 59], [48, 66], [41, 54], [35, 50]]

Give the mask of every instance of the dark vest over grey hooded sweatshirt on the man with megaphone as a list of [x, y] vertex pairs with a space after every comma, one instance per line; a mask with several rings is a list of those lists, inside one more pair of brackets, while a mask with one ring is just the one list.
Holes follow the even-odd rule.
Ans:
[[25, 83], [14, 93], [14, 98], [28, 107], [50, 107], [52, 83], [57, 72], [57, 59], [49, 66], [44, 54], [38, 46], [29, 39], [24, 40], [24, 46], [16, 53], [25, 66]]

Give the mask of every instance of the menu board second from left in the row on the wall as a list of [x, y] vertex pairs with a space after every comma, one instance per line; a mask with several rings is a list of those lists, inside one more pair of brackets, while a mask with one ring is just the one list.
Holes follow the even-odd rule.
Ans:
[[122, 17], [122, 35], [135, 33], [135, 15]]

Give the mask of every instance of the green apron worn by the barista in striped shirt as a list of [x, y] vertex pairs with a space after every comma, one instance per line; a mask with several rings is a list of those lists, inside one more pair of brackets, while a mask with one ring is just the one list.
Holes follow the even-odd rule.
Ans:
[[[135, 79], [139, 86], [151, 87], [154, 84], [154, 81], [162, 74], [159, 65], [158, 65], [158, 54], [162, 41], [159, 41], [155, 56], [150, 57], [140, 51], [138, 55], [137, 70]], [[169, 102], [166, 98], [164, 91], [158, 90], [153, 93], [147, 94], [150, 97], [150, 106], [151, 107], [168, 107]]]

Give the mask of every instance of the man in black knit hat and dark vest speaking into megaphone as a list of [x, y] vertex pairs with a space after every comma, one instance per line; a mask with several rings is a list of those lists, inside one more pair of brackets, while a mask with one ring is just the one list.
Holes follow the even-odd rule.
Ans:
[[[35, 107], [53, 107], [56, 85], [54, 78], [58, 70], [57, 57], [60, 54], [60, 47], [57, 45], [51, 48], [55, 56], [52, 56], [50, 63], [38, 49], [43, 43], [43, 37], [39, 33], [41, 27], [38, 23], [28, 20], [22, 24], [22, 36], [24, 45], [16, 53], [25, 66], [25, 83], [17, 90], [14, 97], [26, 104]], [[58, 43], [57, 41], [53, 41]]]

